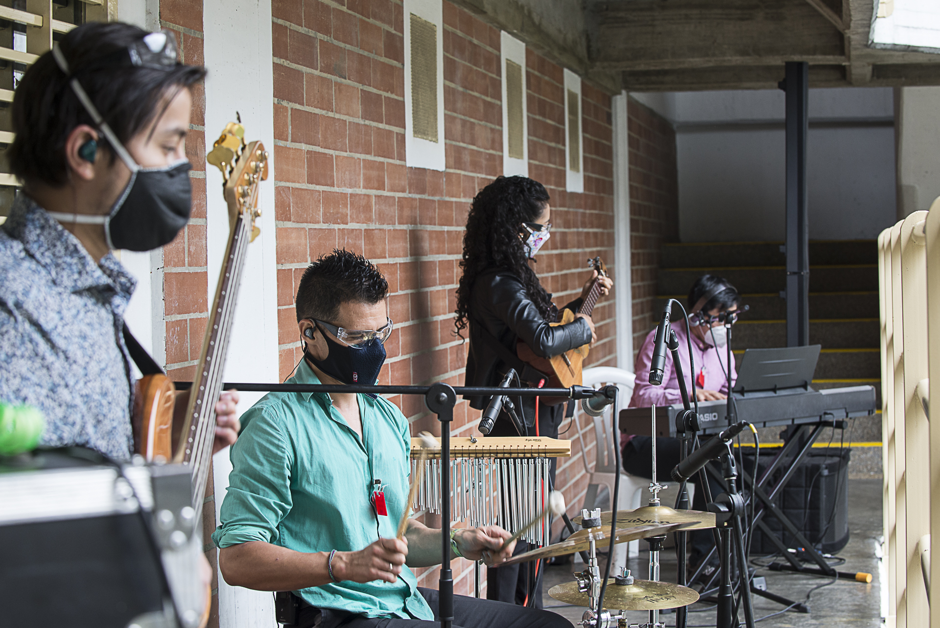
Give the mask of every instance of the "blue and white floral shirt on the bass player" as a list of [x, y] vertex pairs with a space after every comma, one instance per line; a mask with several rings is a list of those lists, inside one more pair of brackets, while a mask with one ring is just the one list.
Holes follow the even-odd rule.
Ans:
[[133, 448], [133, 371], [121, 329], [135, 286], [96, 263], [24, 194], [0, 228], [0, 401], [45, 416], [42, 443], [117, 460]]

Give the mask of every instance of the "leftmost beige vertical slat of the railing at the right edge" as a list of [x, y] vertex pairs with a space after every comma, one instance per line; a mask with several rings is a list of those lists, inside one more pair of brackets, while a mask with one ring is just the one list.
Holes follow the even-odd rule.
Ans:
[[887, 616], [885, 624], [893, 628], [897, 620], [897, 528], [896, 528], [896, 488], [894, 473], [894, 316], [891, 286], [891, 229], [886, 228], [878, 236], [878, 287], [879, 309], [881, 314], [881, 357], [882, 357], [882, 470], [883, 470], [883, 508], [884, 541], [882, 560], [885, 564], [887, 582]]

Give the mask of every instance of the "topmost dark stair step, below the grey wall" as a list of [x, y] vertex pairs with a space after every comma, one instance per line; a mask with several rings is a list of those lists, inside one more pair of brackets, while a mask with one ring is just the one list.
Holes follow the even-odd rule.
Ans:
[[[786, 255], [782, 242], [672, 243], [662, 249], [662, 268], [688, 268], [713, 263], [723, 266], [782, 266]], [[878, 245], [874, 240], [811, 241], [809, 263], [876, 264]]]

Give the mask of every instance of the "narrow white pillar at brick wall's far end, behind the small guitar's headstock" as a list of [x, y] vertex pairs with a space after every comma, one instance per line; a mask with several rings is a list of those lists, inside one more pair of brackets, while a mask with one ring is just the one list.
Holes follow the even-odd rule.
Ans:
[[634, 370], [633, 279], [630, 259], [630, 147], [627, 92], [611, 99], [614, 148], [614, 302], [617, 306], [617, 366]]

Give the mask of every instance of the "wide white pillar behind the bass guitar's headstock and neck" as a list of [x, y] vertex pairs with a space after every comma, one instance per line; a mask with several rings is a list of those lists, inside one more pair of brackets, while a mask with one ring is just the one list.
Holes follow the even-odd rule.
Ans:
[[[274, 79], [271, 65], [270, 0], [205, 0], [203, 5], [206, 78], [206, 149], [226, 123], [242, 116], [245, 139], [259, 139], [274, 155]], [[227, 382], [277, 382], [277, 281], [274, 249], [274, 164], [260, 184], [256, 225], [261, 233], [248, 248], [242, 286], [225, 369]], [[222, 197], [222, 174], [206, 172], [209, 303], [215, 293], [228, 238], [228, 213]], [[241, 393], [240, 413], [261, 393]], [[228, 450], [214, 460], [215, 504], [226, 495]], [[216, 513], [217, 514], [217, 513]], [[208, 542], [208, 540], [207, 540]], [[275, 628], [270, 592], [230, 587], [219, 574], [220, 628]]]

